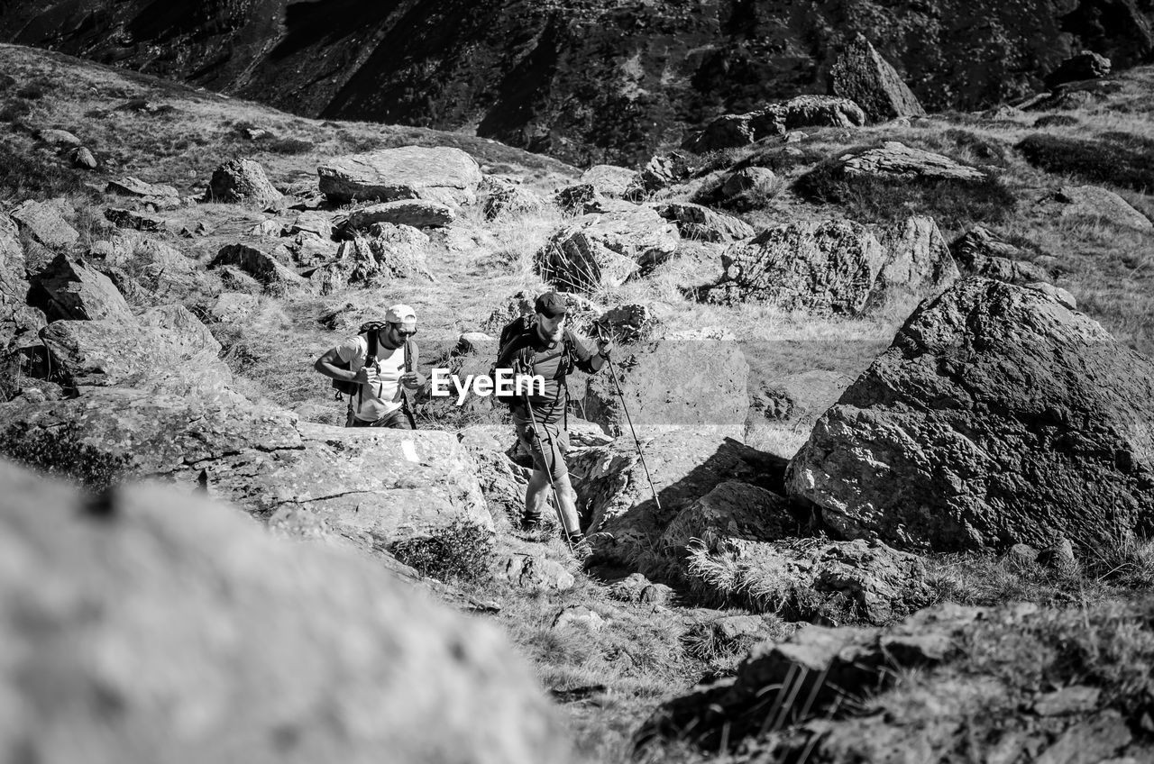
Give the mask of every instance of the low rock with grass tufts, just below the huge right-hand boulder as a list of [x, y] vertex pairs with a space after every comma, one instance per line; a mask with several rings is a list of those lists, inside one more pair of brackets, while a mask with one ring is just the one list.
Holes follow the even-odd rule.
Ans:
[[[747, 524], [745, 530], [752, 526]], [[889, 623], [934, 599], [922, 559], [884, 544], [861, 539], [781, 544], [720, 532], [710, 541], [689, 546], [684, 565], [694, 590], [788, 621]]]

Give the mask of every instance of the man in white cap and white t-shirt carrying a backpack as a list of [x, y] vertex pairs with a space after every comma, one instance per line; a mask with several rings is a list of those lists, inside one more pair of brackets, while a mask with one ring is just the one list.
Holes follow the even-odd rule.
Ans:
[[415, 429], [410, 396], [425, 384], [415, 334], [417, 314], [395, 305], [384, 321], [362, 324], [357, 336], [316, 359], [313, 368], [349, 396], [347, 427]]

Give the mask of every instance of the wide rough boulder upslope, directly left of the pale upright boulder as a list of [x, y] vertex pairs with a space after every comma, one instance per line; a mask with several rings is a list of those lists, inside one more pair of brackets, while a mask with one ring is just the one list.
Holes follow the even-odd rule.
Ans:
[[721, 256], [725, 280], [711, 290], [710, 299], [857, 315], [886, 262], [885, 248], [859, 223], [792, 223], [729, 247]]

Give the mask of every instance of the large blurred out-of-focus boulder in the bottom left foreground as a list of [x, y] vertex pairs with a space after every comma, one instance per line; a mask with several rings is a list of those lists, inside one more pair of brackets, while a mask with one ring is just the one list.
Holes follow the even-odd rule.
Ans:
[[29, 761], [569, 761], [495, 628], [377, 560], [158, 487], [0, 464], [0, 749]]

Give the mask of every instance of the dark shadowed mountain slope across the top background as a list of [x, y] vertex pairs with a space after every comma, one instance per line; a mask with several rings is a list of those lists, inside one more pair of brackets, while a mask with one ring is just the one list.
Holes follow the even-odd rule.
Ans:
[[1139, 0], [100, 0], [0, 5], [0, 39], [308, 117], [632, 164], [721, 112], [826, 92], [864, 35], [931, 111], [1021, 98], [1079, 50], [1149, 60]]

